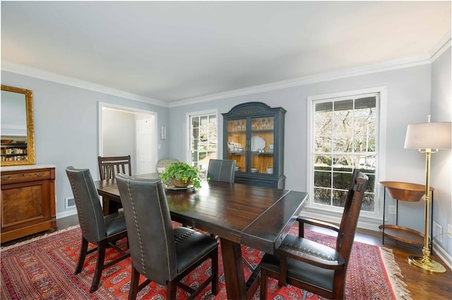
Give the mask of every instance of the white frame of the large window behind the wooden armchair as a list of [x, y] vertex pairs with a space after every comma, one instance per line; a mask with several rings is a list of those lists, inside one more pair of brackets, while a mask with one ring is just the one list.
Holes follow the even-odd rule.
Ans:
[[[378, 182], [382, 177], [386, 177], [386, 101], [387, 101], [387, 92], [386, 87], [371, 87], [369, 89], [357, 89], [346, 92], [337, 92], [331, 94], [320, 94], [315, 96], [307, 97], [307, 142], [308, 149], [307, 151], [307, 189], [309, 190], [309, 200], [307, 203], [307, 211], [314, 213], [323, 213], [326, 215], [329, 220], [337, 220], [337, 218], [342, 214], [343, 208], [334, 207], [334, 206], [326, 206], [320, 204], [314, 204], [314, 173], [313, 173], [313, 152], [314, 152], [314, 124], [312, 123], [313, 115], [314, 115], [314, 101], [319, 100], [328, 100], [328, 99], [340, 99], [343, 97], [357, 96], [363, 94], [379, 94], [379, 101], [377, 101], [376, 109], [378, 111], [378, 127], [377, 130], [377, 154], [376, 154], [376, 172], [375, 172], [375, 210], [374, 212], [370, 211], [361, 211], [360, 219], [368, 219], [372, 220], [372, 223], [375, 223], [376, 220], [381, 221], [383, 215], [383, 201], [380, 196], [380, 188]], [[309, 215], [309, 213], [308, 213]], [[328, 215], [331, 218], [328, 218]], [[336, 218], [336, 219], [335, 219]], [[374, 230], [373, 225], [365, 226], [369, 229]]]

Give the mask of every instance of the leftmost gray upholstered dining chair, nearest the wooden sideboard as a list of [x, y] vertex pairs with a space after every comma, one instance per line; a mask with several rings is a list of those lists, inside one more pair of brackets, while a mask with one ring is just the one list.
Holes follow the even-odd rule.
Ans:
[[[76, 169], [70, 166], [66, 168], [66, 174], [76, 202], [78, 223], [82, 233], [81, 250], [74, 273], [81, 273], [86, 256], [97, 252], [97, 262], [90, 287], [90, 293], [93, 293], [99, 286], [102, 270], [130, 256], [128, 252], [119, 249], [114, 244], [114, 242], [127, 236], [126, 221], [124, 213], [114, 213], [107, 216], [102, 214], [100, 199], [90, 170]], [[88, 250], [88, 242], [95, 244], [96, 247]], [[121, 256], [104, 263], [107, 246], [118, 251]]]

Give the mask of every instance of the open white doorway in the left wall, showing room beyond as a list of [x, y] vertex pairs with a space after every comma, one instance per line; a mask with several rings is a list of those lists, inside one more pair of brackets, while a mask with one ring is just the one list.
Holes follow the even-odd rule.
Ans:
[[100, 103], [99, 155], [131, 156], [132, 174], [153, 173], [157, 163], [157, 113]]

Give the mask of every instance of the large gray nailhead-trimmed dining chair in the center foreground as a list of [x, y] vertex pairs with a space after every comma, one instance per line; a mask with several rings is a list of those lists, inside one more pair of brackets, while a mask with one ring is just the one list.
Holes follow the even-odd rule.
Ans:
[[[210, 282], [218, 293], [218, 241], [187, 227], [172, 227], [165, 189], [161, 180], [116, 177], [131, 251], [132, 271], [129, 299], [151, 281], [167, 287], [167, 299], [176, 299], [177, 286], [194, 299]], [[210, 258], [211, 274], [192, 289], [180, 282]], [[138, 285], [140, 275], [146, 277]]]

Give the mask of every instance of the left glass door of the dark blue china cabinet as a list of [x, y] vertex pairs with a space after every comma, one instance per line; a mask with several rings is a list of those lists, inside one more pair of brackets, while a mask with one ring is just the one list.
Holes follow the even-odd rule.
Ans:
[[236, 172], [246, 172], [246, 118], [227, 121], [227, 159], [235, 161]]

